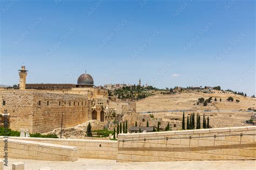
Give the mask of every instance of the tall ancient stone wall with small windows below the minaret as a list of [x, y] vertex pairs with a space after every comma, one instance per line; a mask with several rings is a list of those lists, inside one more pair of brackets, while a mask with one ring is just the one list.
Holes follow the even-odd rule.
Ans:
[[91, 101], [87, 95], [53, 94], [39, 90], [1, 91], [0, 109], [8, 110], [10, 129], [28, 129], [43, 133], [75, 126], [91, 119]]

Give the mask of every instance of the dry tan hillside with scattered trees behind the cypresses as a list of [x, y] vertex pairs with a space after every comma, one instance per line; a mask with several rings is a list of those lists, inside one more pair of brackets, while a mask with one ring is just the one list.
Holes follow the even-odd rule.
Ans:
[[[233, 97], [233, 102], [228, 102], [228, 97]], [[212, 102], [206, 107], [202, 103], [197, 105], [198, 98], [205, 99], [212, 97]], [[217, 101], [214, 101], [214, 98]], [[221, 102], [220, 102], [221, 98]], [[235, 102], [239, 100], [240, 102]], [[185, 91], [184, 93], [172, 95], [155, 95], [147, 97], [137, 102], [137, 112], [145, 115], [145, 112], [154, 112], [155, 117], [163, 118], [168, 122], [173, 118], [182, 118], [191, 112], [205, 114], [210, 117], [211, 125], [218, 127], [241, 126], [242, 122], [250, 119], [252, 112], [247, 112], [248, 108], [256, 108], [256, 98], [244, 97], [234, 94], [206, 94], [196, 91]], [[242, 109], [242, 111], [241, 111]], [[144, 112], [142, 114], [142, 112]]]

